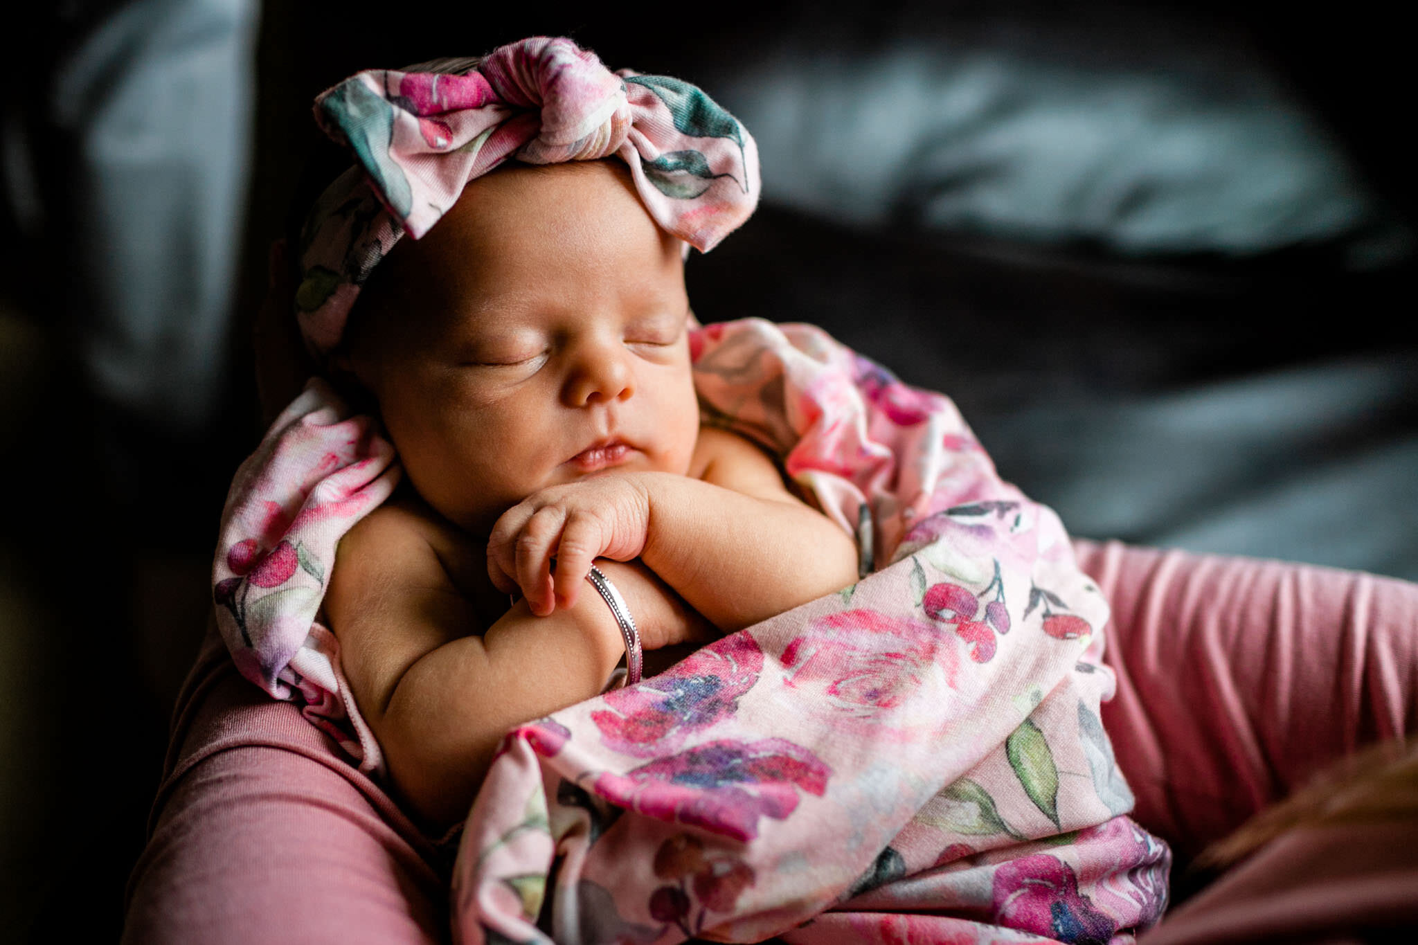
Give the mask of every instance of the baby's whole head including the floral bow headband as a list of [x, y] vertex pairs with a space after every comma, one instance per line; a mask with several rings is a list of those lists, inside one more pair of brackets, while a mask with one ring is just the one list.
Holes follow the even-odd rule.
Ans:
[[301, 330], [377, 401], [434, 509], [482, 531], [545, 486], [688, 470], [683, 249], [759, 198], [732, 115], [536, 37], [360, 72], [316, 118], [359, 163], [302, 234]]

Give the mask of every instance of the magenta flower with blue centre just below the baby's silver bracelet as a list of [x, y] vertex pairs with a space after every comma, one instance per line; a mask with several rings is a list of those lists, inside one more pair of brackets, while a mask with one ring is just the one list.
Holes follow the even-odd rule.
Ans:
[[640, 686], [607, 693], [610, 710], [591, 713], [591, 721], [608, 747], [627, 755], [676, 751], [689, 734], [733, 715], [761, 670], [763, 650], [735, 633]]

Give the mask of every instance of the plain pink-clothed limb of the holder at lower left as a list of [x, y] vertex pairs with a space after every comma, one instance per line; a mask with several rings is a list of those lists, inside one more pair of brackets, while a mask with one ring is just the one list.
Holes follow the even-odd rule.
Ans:
[[434, 847], [208, 636], [129, 880], [125, 942], [448, 939]]

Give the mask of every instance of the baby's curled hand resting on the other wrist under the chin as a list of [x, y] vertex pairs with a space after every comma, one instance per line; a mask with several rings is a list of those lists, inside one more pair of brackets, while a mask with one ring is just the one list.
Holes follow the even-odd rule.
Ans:
[[576, 604], [596, 558], [640, 557], [648, 528], [649, 494], [634, 476], [552, 486], [498, 519], [488, 538], [488, 577], [505, 594], [522, 588], [532, 612], [546, 616]]

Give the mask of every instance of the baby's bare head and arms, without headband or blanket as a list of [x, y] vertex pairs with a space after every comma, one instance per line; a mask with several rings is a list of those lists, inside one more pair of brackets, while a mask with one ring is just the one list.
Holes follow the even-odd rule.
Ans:
[[700, 426], [682, 245], [618, 160], [506, 164], [396, 245], [350, 315], [335, 364], [413, 489], [343, 538], [325, 606], [428, 825], [467, 815], [510, 727], [605, 684], [624, 645], [593, 560], [647, 649], [856, 579], [852, 540], [766, 453]]

